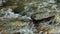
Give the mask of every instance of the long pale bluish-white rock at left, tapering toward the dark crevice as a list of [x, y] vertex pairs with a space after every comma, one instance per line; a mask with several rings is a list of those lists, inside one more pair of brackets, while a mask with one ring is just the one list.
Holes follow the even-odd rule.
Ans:
[[1, 9], [0, 16], [1, 16], [1, 19], [3, 19], [3, 20], [11, 20], [11, 21], [16, 20], [16, 19], [24, 20], [24, 21], [31, 20], [31, 18], [26, 15], [22, 16], [21, 14], [16, 14], [16, 13], [12, 12], [12, 9], [10, 9], [10, 8]]

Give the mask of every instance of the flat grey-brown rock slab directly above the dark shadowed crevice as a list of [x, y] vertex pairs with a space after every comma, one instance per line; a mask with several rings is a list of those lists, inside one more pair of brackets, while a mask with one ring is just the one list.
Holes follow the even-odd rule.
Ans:
[[44, 18], [49, 18], [49, 17], [53, 17], [55, 16], [55, 14], [52, 13], [42, 13], [42, 14], [34, 14], [32, 15], [32, 18], [34, 17], [34, 19], [39, 20], [39, 19], [44, 19]]

